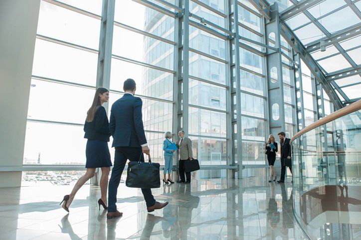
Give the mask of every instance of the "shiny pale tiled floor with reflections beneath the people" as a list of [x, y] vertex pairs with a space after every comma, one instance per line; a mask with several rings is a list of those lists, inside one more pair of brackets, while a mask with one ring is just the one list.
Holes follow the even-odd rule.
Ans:
[[0, 239], [304, 239], [287, 183], [202, 179], [161, 186], [153, 194], [170, 204], [153, 214], [141, 191], [122, 183], [117, 205], [124, 215], [112, 220], [98, 210], [100, 189], [90, 185], [80, 189], [67, 214], [59, 202], [71, 188], [0, 189]]

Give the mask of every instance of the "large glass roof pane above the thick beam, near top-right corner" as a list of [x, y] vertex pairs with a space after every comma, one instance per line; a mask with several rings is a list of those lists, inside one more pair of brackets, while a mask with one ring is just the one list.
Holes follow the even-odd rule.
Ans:
[[360, 18], [350, 7], [345, 7], [335, 13], [318, 20], [330, 33], [343, 30], [360, 22]]

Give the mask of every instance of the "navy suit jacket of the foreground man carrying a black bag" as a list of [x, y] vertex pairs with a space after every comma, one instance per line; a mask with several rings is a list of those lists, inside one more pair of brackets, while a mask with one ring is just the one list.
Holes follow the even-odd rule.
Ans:
[[109, 130], [112, 147], [141, 148], [147, 143], [142, 120], [142, 99], [126, 93], [113, 103]]

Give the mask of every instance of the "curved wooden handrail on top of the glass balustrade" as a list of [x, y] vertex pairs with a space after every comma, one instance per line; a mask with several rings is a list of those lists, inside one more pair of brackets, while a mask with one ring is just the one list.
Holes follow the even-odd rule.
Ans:
[[330, 115], [312, 123], [310, 126], [302, 129], [298, 133], [295, 134], [295, 136], [292, 137], [290, 144], [301, 135], [304, 135], [305, 133], [308, 133], [309, 131], [318, 128], [326, 123], [332, 122], [340, 117], [346, 116], [347, 114], [359, 111], [361, 109], [361, 100], [354, 102], [350, 104], [349, 106], [343, 107], [336, 112], [331, 113]]

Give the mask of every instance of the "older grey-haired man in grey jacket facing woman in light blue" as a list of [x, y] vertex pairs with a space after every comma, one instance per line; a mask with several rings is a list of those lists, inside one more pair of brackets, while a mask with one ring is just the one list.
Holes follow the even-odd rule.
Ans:
[[[177, 148], [179, 149], [179, 155], [180, 155], [179, 174], [181, 176], [181, 180], [179, 180], [177, 182], [179, 182], [179, 183], [190, 183], [190, 172], [185, 172], [184, 171], [184, 162], [189, 161], [193, 157], [193, 154], [192, 154], [192, 141], [190, 141], [189, 138], [184, 136], [184, 131], [180, 131], [178, 133], [178, 136], [181, 139], [180, 142], [178, 142], [178, 140], [176, 142], [177, 143]], [[184, 177], [184, 172], [185, 172], [185, 175], [187, 177], [186, 180], [185, 180], [185, 177]]]

